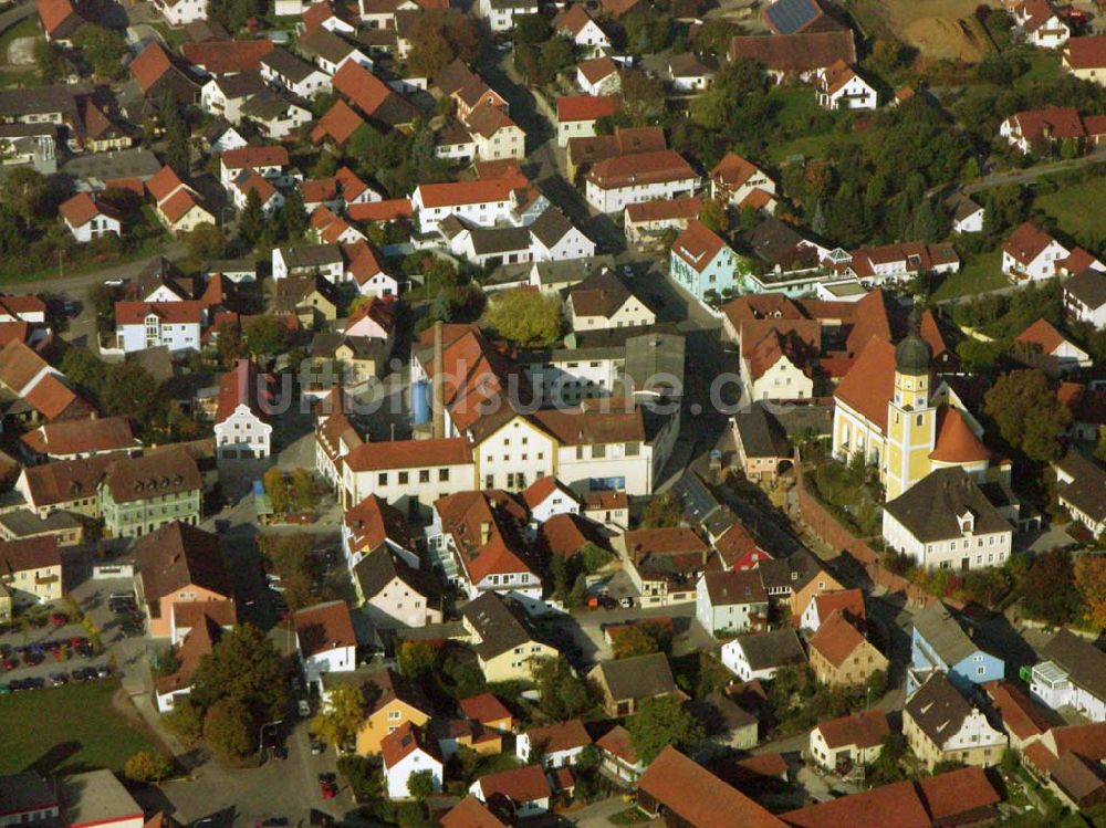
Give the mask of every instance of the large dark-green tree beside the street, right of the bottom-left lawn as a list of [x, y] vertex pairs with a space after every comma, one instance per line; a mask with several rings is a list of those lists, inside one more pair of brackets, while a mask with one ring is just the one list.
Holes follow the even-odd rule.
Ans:
[[200, 660], [190, 696], [204, 708], [227, 699], [239, 702], [254, 725], [280, 719], [288, 708], [280, 653], [253, 625], [236, 627]]

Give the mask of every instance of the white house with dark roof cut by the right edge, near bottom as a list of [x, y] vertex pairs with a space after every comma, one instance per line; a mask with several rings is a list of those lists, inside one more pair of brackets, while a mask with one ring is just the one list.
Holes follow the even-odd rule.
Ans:
[[1106, 653], [1060, 629], [1041, 648], [1030, 692], [1052, 710], [1072, 708], [1092, 722], [1106, 722]]

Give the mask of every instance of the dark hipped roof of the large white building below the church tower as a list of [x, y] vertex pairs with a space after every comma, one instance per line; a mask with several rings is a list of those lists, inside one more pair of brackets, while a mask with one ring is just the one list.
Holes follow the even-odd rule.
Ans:
[[930, 472], [884, 509], [921, 543], [961, 537], [958, 517], [966, 512], [974, 518], [975, 535], [1013, 531], [959, 465]]

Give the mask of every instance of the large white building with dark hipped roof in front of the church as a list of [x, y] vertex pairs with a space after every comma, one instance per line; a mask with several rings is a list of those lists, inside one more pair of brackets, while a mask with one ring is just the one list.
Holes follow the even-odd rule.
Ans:
[[[964, 453], [957, 459], [967, 459], [969, 451], [980, 457], [971, 431], [960, 428]], [[1013, 552], [1013, 526], [962, 465], [937, 469], [887, 501], [883, 522], [887, 547], [927, 568], [1002, 566]]]

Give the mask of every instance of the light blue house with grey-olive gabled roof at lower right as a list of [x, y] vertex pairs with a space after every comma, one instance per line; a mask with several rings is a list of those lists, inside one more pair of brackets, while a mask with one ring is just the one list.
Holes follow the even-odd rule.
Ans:
[[1002, 659], [980, 649], [949, 608], [935, 601], [914, 617], [907, 695], [921, 686], [935, 670], [946, 673], [957, 690], [968, 694], [975, 684], [1002, 679], [1005, 664]]

